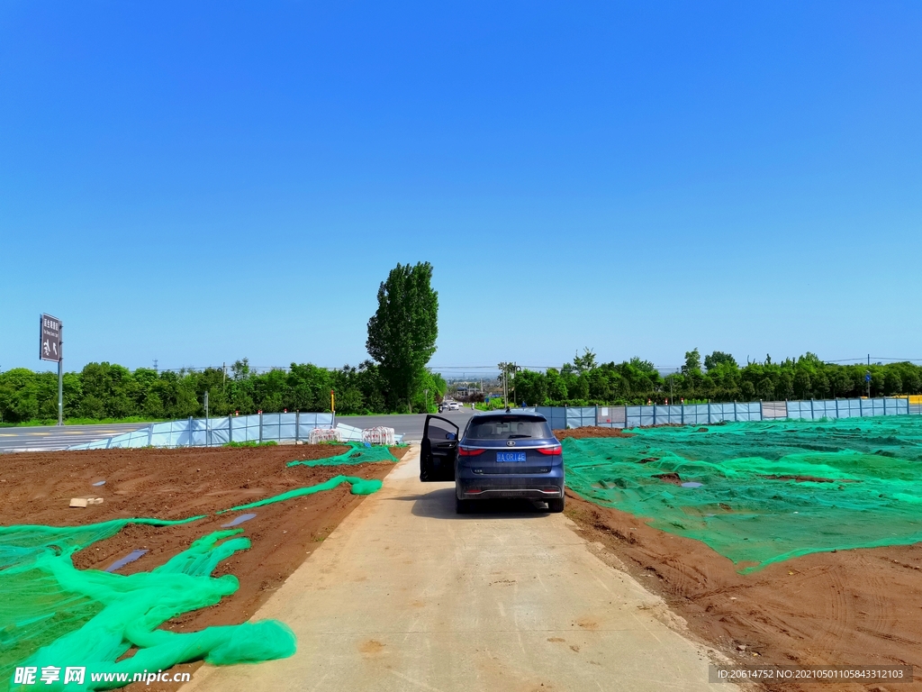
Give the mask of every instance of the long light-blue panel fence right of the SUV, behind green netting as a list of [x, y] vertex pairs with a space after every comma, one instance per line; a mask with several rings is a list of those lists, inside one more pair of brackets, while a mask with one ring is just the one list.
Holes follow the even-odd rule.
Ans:
[[632, 428], [644, 425], [701, 425], [735, 421], [772, 421], [785, 418], [818, 421], [822, 418], [860, 418], [883, 415], [922, 415], [922, 405], [908, 399], [831, 399], [810, 401], [734, 401], [732, 403], [652, 406], [537, 406], [554, 430], [597, 425]]

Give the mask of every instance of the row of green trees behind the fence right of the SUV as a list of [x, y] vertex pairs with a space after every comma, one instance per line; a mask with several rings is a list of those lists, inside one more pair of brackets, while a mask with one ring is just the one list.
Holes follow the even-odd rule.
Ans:
[[911, 363], [840, 365], [823, 363], [814, 353], [773, 363], [737, 364], [715, 351], [702, 362], [697, 349], [685, 353], [679, 373], [661, 375], [649, 361], [598, 364], [585, 349], [573, 363], [540, 373], [523, 370], [512, 377], [514, 400], [529, 406], [586, 406], [756, 400], [809, 400], [922, 393], [922, 366]]

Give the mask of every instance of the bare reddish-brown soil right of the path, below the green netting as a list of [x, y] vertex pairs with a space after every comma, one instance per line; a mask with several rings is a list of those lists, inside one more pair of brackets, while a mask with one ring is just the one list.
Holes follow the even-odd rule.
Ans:
[[590, 541], [691, 631], [739, 664], [914, 665], [911, 684], [769, 685], [785, 692], [922, 689], [922, 543], [805, 555], [740, 575], [704, 543], [658, 531], [567, 491]]

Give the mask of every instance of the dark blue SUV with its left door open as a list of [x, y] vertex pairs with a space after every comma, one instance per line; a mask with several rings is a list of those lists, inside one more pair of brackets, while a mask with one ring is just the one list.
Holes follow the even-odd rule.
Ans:
[[427, 416], [420, 481], [454, 481], [458, 514], [477, 500], [505, 497], [542, 500], [551, 512], [563, 511], [561, 443], [538, 413], [480, 413], [460, 439], [457, 425]]

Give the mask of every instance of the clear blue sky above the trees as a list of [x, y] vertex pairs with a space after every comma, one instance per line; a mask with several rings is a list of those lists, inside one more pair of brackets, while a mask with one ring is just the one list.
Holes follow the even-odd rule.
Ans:
[[[922, 359], [922, 4], [0, 5], [0, 369]], [[527, 326], [522, 321], [527, 318]]]

